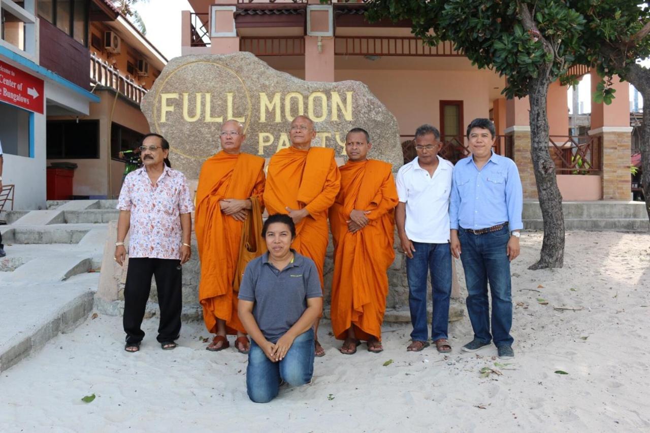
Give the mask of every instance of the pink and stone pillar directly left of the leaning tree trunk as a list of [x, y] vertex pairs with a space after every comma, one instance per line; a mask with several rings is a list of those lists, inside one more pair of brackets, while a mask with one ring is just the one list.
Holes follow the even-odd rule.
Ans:
[[506, 129], [504, 129], [504, 133], [513, 141], [513, 159], [519, 168], [524, 198], [536, 200], [538, 198], [537, 183], [530, 157], [529, 110], [530, 103], [527, 97], [506, 99]]

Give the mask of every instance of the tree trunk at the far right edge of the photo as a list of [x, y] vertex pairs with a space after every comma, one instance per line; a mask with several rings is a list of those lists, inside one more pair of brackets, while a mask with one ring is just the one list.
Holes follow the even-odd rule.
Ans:
[[641, 183], [645, 198], [645, 211], [650, 219], [650, 70], [631, 64], [625, 77], [643, 97], [643, 123], [641, 125]]

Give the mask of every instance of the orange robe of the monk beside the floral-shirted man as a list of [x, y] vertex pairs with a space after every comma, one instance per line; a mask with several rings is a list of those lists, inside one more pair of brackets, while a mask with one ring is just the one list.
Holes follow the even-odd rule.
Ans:
[[229, 334], [246, 332], [237, 316], [237, 293], [233, 293], [244, 222], [222, 213], [219, 200], [257, 197], [261, 202], [263, 192], [264, 159], [261, 157], [220, 151], [201, 166], [194, 231], [201, 259], [199, 301], [205, 327], [213, 334], [216, 334], [217, 318], [226, 321]]

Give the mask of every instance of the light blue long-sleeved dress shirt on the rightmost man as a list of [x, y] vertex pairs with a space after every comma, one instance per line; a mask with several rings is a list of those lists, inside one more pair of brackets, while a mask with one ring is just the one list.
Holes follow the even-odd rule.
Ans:
[[521, 221], [523, 191], [519, 170], [510, 158], [492, 152], [478, 170], [472, 155], [454, 166], [449, 226], [480, 230], [508, 222], [510, 231], [524, 228]]

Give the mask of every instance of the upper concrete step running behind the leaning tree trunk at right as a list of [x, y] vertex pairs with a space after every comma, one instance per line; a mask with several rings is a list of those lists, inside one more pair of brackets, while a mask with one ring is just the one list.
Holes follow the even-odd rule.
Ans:
[[[564, 202], [564, 218], [645, 218], [643, 202]], [[524, 220], [541, 219], [539, 202], [525, 202], [522, 217]]]

